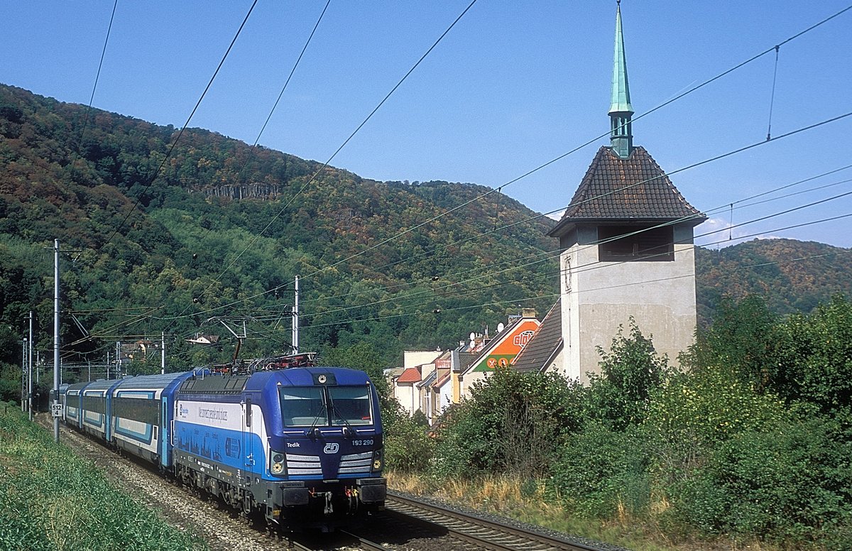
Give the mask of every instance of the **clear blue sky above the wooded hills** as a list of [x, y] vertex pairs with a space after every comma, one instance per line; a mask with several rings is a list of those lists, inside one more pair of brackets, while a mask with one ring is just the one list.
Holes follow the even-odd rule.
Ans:
[[[625, 0], [634, 117], [848, 2]], [[260, 143], [328, 160], [468, 3], [332, 0]], [[0, 82], [88, 104], [112, 5], [3, 3]], [[182, 126], [250, 5], [120, 0], [93, 106]], [[324, 6], [261, 0], [190, 126], [253, 143]], [[606, 133], [615, 10], [603, 0], [479, 0], [331, 164], [380, 181], [500, 187]], [[852, 111], [850, 26], [852, 10], [780, 47], [773, 136]], [[852, 117], [680, 171], [765, 141], [774, 68], [772, 52], [634, 123], [635, 143], [711, 216], [697, 233], [852, 191], [845, 182], [852, 169], [843, 169], [760, 200], [803, 192], [792, 197], [742, 201], [852, 164]], [[599, 139], [504, 192], [538, 212], [563, 209], [607, 143]], [[852, 247], [852, 217], [779, 229], [850, 213], [852, 195], [699, 243], [757, 234]]]

